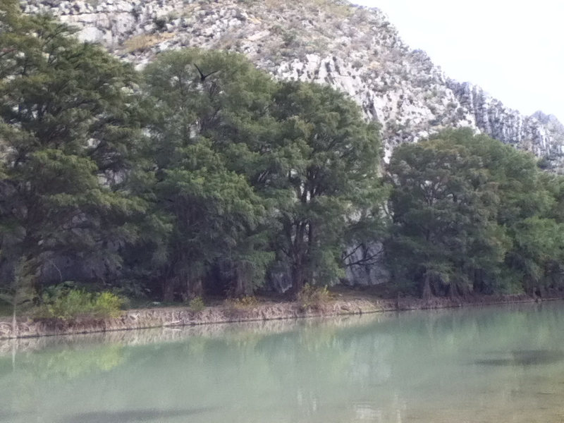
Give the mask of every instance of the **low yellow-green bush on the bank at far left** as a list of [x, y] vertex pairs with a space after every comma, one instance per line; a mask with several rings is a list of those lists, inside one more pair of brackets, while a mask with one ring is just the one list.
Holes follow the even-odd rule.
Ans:
[[42, 296], [37, 317], [71, 320], [78, 317], [118, 317], [123, 300], [114, 293], [104, 291], [88, 293], [83, 289], [53, 288]]

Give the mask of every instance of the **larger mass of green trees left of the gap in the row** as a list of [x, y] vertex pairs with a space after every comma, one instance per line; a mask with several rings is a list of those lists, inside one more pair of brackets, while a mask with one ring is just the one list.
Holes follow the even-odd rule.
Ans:
[[25, 276], [36, 298], [73, 280], [172, 301], [345, 276], [383, 200], [378, 131], [351, 99], [214, 51], [138, 74], [15, 6], [2, 25], [5, 290]]

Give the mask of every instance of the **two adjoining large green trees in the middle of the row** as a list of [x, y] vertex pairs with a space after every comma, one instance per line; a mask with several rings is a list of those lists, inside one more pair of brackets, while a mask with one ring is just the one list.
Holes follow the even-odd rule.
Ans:
[[[161, 255], [173, 278], [160, 276], [167, 299], [171, 287], [194, 278], [200, 287], [212, 274], [231, 275], [235, 295], [251, 293], [274, 253], [271, 273], [290, 274], [295, 291], [344, 276], [343, 251], [367, 237], [384, 195], [378, 130], [351, 99], [195, 49], [161, 55], [145, 78], [154, 110], [147, 192], [172, 222]], [[196, 175], [202, 185], [180, 201], [178, 188]]]

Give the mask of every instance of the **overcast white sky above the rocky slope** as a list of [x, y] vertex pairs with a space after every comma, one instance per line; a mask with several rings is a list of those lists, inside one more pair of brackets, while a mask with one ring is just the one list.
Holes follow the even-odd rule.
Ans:
[[564, 0], [351, 1], [384, 11], [450, 78], [564, 123]]

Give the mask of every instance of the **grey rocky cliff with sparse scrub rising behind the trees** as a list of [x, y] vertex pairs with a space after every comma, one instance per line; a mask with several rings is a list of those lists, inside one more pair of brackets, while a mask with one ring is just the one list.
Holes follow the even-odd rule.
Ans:
[[450, 80], [411, 50], [376, 8], [339, 0], [26, 0], [80, 28], [136, 66], [166, 49], [203, 47], [246, 54], [276, 78], [328, 83], [382, 125], [389, 157], [446, 126], [473, 128], [564, 164], [564, 127], [542, 113], [523, 116], [482, 89]]

